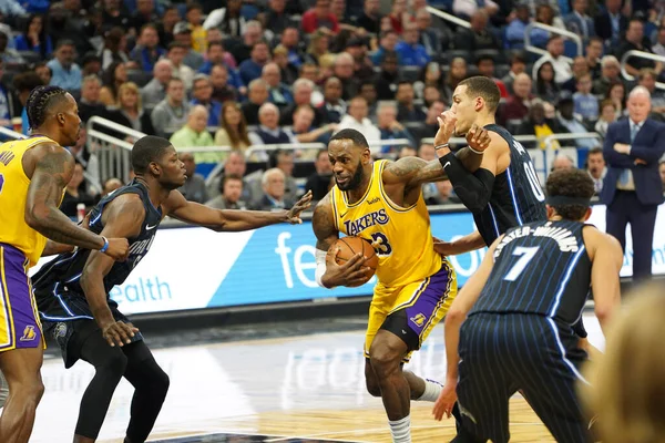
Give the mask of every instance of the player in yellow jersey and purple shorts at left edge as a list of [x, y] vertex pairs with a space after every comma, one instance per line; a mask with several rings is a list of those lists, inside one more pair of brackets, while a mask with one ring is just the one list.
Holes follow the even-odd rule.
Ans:
[[32, 136], [0, 145], [0, 370], [9, 384], [0, 442], [12, 443], [28, 442], [43, 392], [44, 341], [28, 269], [42, 255], [73, 246], [114, 259], [124, 259], [129, 249], [125, 238], [101, 237], [58, 209], [74, 171], [74, 158], [62, 147], [79, 138], [74, 99], [60, 87], [40, 86], [25, 107]]

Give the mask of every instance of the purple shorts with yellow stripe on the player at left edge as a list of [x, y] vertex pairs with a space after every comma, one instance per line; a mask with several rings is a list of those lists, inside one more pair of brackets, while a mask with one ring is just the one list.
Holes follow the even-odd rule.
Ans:
[[0, 243], [0, 352], [45, 348], [28, 266], [23, 253]]

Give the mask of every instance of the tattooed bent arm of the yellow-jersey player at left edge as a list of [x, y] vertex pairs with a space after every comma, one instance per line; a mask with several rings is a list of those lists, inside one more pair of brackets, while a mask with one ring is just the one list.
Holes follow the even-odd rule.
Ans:
[[73, 224], [58, 207], [62, 190], [71, 181], [74, 158], [62, 146], [42, 144], [30, 151], [34, 167], [25, 171], [31, 177], [28, 188], [24, 219], [28, 226], [47, 238], [85, 249], [104, 249], [114, 259], [124, 259], [126, 239], [110, 239]]

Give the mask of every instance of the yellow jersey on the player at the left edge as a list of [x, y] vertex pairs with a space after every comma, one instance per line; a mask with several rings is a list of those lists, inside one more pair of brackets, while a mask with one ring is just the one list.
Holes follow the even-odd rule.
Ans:
[[23, 171], [22, 158], [28, 150], [44, 142], [54, 143], [48, 137], [31, 137], [0, 145], [0, 243], [21, 250], [30, 266], [39, 260], [47, 238], [25, 223], [30, 178]]

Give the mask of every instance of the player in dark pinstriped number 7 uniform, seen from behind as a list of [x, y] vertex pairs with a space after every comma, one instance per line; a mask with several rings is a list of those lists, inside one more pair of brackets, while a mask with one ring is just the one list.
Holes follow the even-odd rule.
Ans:
[[591, 285], [605, 330], [621, 302], [623, 264], [618, 241], [584, 224], [593, 194], [584, 171], [552, 173], [548, 220], [500, 236], [453, 301], [446, 392], [434, 416], [450, 416], [457, 388], [462, 418], [454, 442], [508, 442], [508, 403], [518, 390], [556, 441], [592, 440], [575, 394], [575, 383], [586, 382], [586, 354], [573, 326]]

